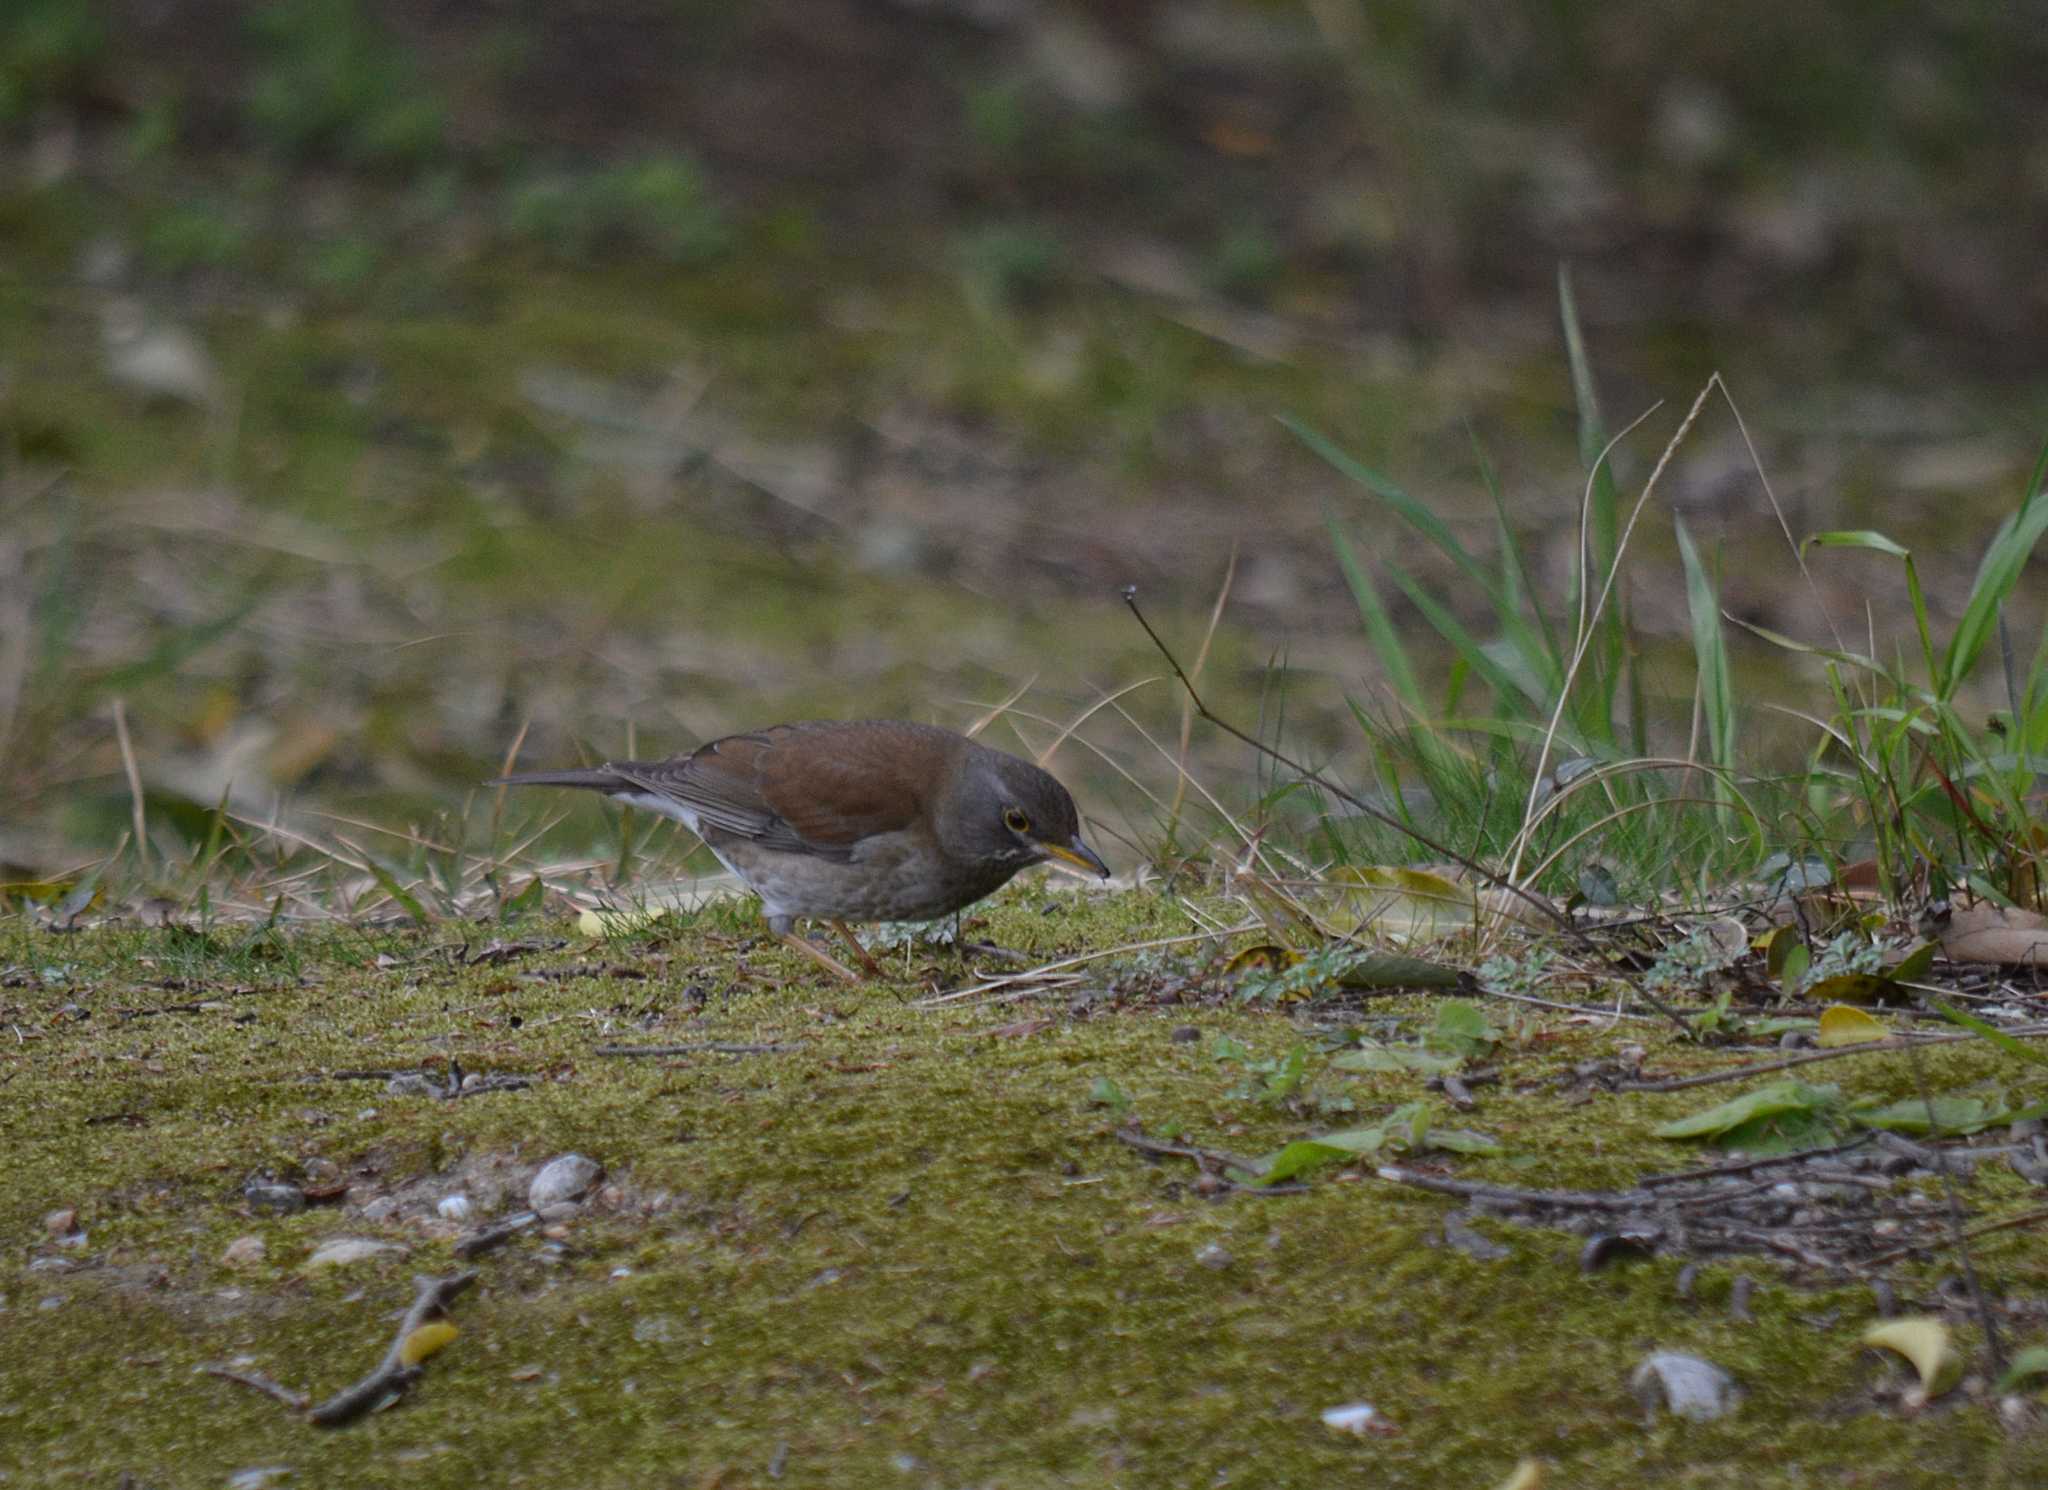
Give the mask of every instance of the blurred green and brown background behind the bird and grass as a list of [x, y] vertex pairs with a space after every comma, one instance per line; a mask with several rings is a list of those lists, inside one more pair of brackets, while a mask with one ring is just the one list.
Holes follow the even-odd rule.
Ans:
[[[1233, 555], [1204, 680], [1366, 776], [1331, 528], [1489, 606], [1276, 415], [1475, 549], [1497, 481], [1561, 602], [1561, 262], [1610, 426], [1665, 401], [1624, 489], [1720, 370], [1790, 534], [1886, 530], [1952, 622], [2044, 424], [2044, 242], [2030, 6], [10, 0], [0, 878], [127, 831], [117, 702], [158, 851], [221, 802], [446, 839], [528, 722], [1071, 718], [1159, 671], [1116, 587], [1192, 655]], [[1628, 559], [1653, 737], [1671, 508], [1731, 614], [1896, 647], [1896, 565], [1806, 587], [1716, 399]], [[1812, 673], [1731, 647], [1767, 759]], [[1167, 688], [1122, 704], [1171, 747]]]

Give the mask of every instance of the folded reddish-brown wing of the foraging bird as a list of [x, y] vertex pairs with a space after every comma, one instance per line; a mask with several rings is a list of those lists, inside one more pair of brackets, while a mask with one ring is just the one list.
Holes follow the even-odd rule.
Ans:
[[948, 739], [858, 722], [778, 725], [674, 761], [608, 770], [684, 802], [707, 827], [788, 853], [848, 860], [860, 839], [918, 821]]

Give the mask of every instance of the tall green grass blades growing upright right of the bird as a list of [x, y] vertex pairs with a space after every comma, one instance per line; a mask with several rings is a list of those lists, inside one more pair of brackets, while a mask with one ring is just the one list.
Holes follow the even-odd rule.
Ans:
[[[1503, 862], [1509, 874], [1526, 872], [1530, 882], [1554, 890], [1573, 886], [1579, 868], [1599, 860], [1624, 866], [1624, 876], [1645, 888], [1690, 888], [1704, 899], [1759, 874], [1774, 856], [1792, 862], [1819, 853], [1835, 870], [1858, 856], [1874, 858], [1894, 911], [1911, 911], [1915, 896], [1952, 886], [2001, 903], [2038, 903], [2048, 849], [2036, 810], [2048, 770], [2048, 645], [2021, 667], [2001, 618], [2048, 532], [2042, 497], [2048, 450], [1987, 546], [1946, 643], [1935, 639], [1913, 555], [1898, 542], [1878, 532], [1821, 532], [1794, 546], [1800, 573], [1810, 549], [1864, 549], [1898, 559], [1921, 663], [1915, 677], [1903, 663], [1882, 661], [1876, 649], [1858, 653], [1839, 641], [1808, 645], [1751, 628], [1821, 663], [1833, 706], [1808, 718], [1815, 745], [1796, 763], [1759, 761], [1743, 749], [1745, 720], [1718, 581], [1673, 514], [1692, 622], [1692, 718], [1681, 749], [1653, 751], [1653, 737], [1675, 731], [1647, 704], [1638, 663], [1645, 645], [1626, 604], [1626, 549], [1657, 477], [1706, 399], [1724, 389], [1712, 379], [1700, 391], [1624, 518], [1612, 473], [1618, 440], [1606, 434], [1569, 276], [1561, 278], [1559, 297], [1585, 491], [1575, 565], [1556, 610], [1530, 585], [1485, 458], [1481, 471], [1497, 514], [1493, 555], [1460, 540], [1427, 501], [1317, 430], [1288, 422], [1313, 452], [1444, 555], [1464, 585], [1460, 598], [1448, 598], [1397, 561], [1368, 565], [1343, 516], [1325, 514], [1366, 639], [1389, 680], [1389, 700], [1354, 702], [1354, 716], [1372, 745], [1380, 794], [1395, 817], [1438, 841], [1468, 843], [1477, 858]], [[1448, 645], [1452, 667], [1440, 696], [1423, 686], [1382, 581]], [[1475, 610], [1479, 622], [1468, 620]], [[1972, 725], [1960, 706], [1962, 688], [1995, 639], [2007, 708], [1987, 725]], [[1331, 827], [1327, 843], [1337, 858], [1413, 853], [1397, 833], [1378, 829], [1348, 841]]]

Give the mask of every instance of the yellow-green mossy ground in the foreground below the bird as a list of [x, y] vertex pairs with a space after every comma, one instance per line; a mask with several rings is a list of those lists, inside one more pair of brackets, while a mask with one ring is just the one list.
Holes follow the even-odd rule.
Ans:
[[[1049, 907], [1057, 907], [1049, 913]], [[1262, 1056], [1305, 1011], [1157, 1005], [1075, 991], [1053, 1003], [940, 1005], [911, 987], [846, 991], [731, 915], [590, 944], [561, 925], [467, 962], [496, 929], [279, 931], [211, 937], [0, 927], [8, 1181], [0, 1187], [0, 1482], [219, 1486], [291, 1465], [299, 1486], [1493, 1486], [1522, 1455], [1559, 1486], [2023, 1486], [2040, 1435], [2007, 1437], [1978, 1396], [1923, 1416], [1878, 1406], [1853, 1339], [1862, 1287], [1812, 1289], [1774, 1265], [1677, 1263], [1581, 1275], [1577, 1238], [1495, 1228], [1483, 1263], [1434, 1244], [1448, 1201], [1364, 1171], [1309, 1193], [1204, 1197], [1178, 1160], [1114, 1140], [1090, 1103], [1110, 1077], [1151, 1132], [1262, 1152], [1331, 1126], [1233, 1095], [1212, 1056]], [[1014, 886], [973, 927], [1053, 956], [1184, 931], [1149, 894]], [[901, 954], [897, 954], [901, 956]], [[950, 968], [950, 954], [913, 966]], [[545, 974], [545, 976], [535, 976]], [[956, 976], [956, 968], [954, 968]], [[1104, 972], [1094, 987], [1104, 987]], [[1432, 1019], [1425, 999], [1372, 1015]], [[1042, 1023], [1040, 1023], [1042, 1021]], [[1194, 1025], [1198, 1040], [1176, 1040]], [[1620, 1183], [1696, 1156], [1649, 1130], [1704, 1105], [1585, 1095], [1544, 1077], [1645, 1027], [1530, 1025], [1503, 1083], [1460, 1122], [1501, 1140], [1456, 1173], [1511, 1185]], [[1661, 1036], [1651, 1034], [1657, 1044]], [[602, 1058], [610, 1042], [797, 1046], [764, 1054]], [[362, 1068], [537, 1077], [524, 1091], [399, 1097]], [[1655, 1064], [1724, 1060], [1655, 1052]], [[1878, 1095], [1896, 1058], [1831, 1077]], [[1995, 1058], [1958, 1046], [1944, 1085]], [[1849, 1070], [1853, 1066], [1853, 1070]], [[1327, 1075], [1360, 1115], [1417, 1077]], [[416, 1394], [338, 1433], [201, 1363], [246, 1357], [315, 1398], [385, 1349], [414, 1273], [446, 1273], [453, 1226], [367, 1197], [524, 1183], [580, 1150], [616, 1195], [477, 1259], [461, 1339]], [[242, 1185], [332, 1163], [342, 1203], [250, 1216]], [[1972, 1201], [1997, 1199], [1980, 1181]], [[518, 1195], [518, 1189], [512, 1191]], [[43, 1216], [76, 1206], [63, 1248]], [[510, 1201], [508, 1201], [510, 1208]], [[254, 1234], [266, 1259], [229, 1267]], [[307, 1275], [330, 1236], [410, 1255]], [[1204, 1261], [1204, 1248], [1210, 1251]], [[1227, 1255], [1227, 1257], [1225, 1257]], [[70, 1271], [35, 1259], [68, 1259]], [[2048, 1287], [2023, 1232], [1985, 1238], [2009, 1294]], [[1755, 1322], [1726, 1287], [1757, 1277]], [[1939, 1273], [1898, 1275], [1903, 1298]], [[2032, 1341], [2019, 1341], [2032, 1343]], [[1651, 1347], [1735, 1369], [1749, 1398], [1712, 1427], [1645, 1427], [1630, 1367]], [[1397, 1427], [1337, 1439], [1327, 1406], [1368, 1400]]]

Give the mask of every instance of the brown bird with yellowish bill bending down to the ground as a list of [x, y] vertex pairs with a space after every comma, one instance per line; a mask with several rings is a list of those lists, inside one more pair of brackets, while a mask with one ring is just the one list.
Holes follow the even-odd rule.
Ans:
[[770, 725], [662, 761], [514, 772], [492, 786], [569, 786], [672, 817], [762, 901], [768, 931], [850, 982], [795, 933], [829, 921], [872, 976], [848, 921], [932, 921], [1030, 864], [1110, 876], [1049, 772], [936, 725], [895, 718]]

